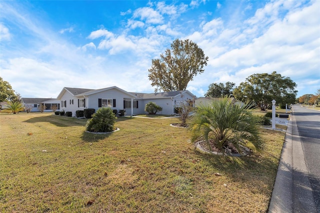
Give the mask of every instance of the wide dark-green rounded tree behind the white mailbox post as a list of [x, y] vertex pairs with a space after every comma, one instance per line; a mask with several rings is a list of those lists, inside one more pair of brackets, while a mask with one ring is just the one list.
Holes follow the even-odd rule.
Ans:
[[253, 101], [261, 110], [272, 105], [272, 99], [279, 105], [294, 103], [297, 90], [296, 83], [289, 77], [273, 71], [268, 73], [252, 74], [233, 90], [233, 95], [241, 101]]

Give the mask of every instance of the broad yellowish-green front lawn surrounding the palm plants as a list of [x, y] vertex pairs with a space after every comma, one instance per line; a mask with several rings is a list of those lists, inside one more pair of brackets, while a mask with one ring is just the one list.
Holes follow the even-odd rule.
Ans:
[[233, 163], [194, 149], [187, 129], [169, 125], [178, 118], [119, 117], [103, 135], [85, 122], [0, 114], [2, 212], [267, 210], [283, 132], [261, 129], [266, 151]]

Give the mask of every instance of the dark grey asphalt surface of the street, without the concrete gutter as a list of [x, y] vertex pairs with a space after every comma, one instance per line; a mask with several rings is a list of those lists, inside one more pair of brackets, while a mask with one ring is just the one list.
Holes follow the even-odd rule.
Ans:
[[320, 111], [294, 105], [293, 116], [293, 125], [295, 121], [316, 210], [320, 212]]

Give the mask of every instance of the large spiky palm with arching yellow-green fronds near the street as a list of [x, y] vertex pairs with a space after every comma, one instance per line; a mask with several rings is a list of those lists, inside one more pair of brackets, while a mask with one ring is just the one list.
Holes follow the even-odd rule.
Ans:
[[199, 106], [190, 124], [192, 141], [204, 140], [211, 150], [214, 147], [223, 154], [230, 152], [230, 143], [240, 154], [246, 148], [261, 151], [264, 143], [251, 106], [231, 104], [227, 96]]

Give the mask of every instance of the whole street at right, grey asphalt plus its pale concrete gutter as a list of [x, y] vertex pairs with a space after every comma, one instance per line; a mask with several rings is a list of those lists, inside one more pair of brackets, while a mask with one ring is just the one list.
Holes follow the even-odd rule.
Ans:
[[269, 213], [320, 213], [320, 111], [294, 105]]

